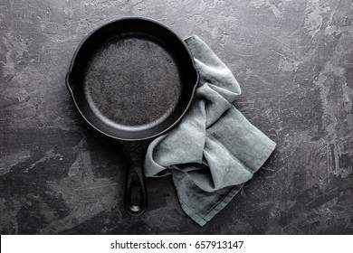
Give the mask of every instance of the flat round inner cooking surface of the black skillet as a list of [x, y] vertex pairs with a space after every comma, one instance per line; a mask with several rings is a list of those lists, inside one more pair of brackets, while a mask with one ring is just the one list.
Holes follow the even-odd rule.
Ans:
[[92, 111], [114, 127], [157, 125], [175, 110], [181, 95], [175, 57], [157, 39], [134, 33], [102, 42], [84, 76]]

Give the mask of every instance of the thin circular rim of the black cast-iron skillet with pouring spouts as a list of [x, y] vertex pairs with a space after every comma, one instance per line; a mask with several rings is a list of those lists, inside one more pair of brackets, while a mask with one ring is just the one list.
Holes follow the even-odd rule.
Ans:
[[[191, 96], [190, 96], [189, 101], [188, 101], [188, 103], [186, 105], [186, 108], [181, 113], [181, 115], [176, 118], [176, 120], [173, 122], [173, 124], [171, 124], [170, 126], [167, 126], [165, 129], [163, 129], [162, 131], [160, 131], [160, 132], [158, 132], [157, 134], [154, 134], [154, 135], [150, 135], [150, 136], [146, 136], [146, 137], [138, 137], [138, 138], [124, 138], [124, 137], [119, 137], [119, 136], [112, 136], [112, 135], [100, 130], [97, 126], [94, 126], [87, 117], [84, 116], [84, 114], [82, 113], [80, 107], [78, 106], [76, 98], [75, 98], [75, 96], [73, 94], [72, 87], [70, 86], [70, 75], [72, 73], [72, 69], [73, 69], [73, 66], [74, 66], [74, 63], [76, 61], [78, 53], [81, 51], [82, 46], [87, 42], [87, 40], [91, 37], [91, 35], [93, 35], [94, 33], [97, 33], [100, 29], [102, 29], [102, 28], [104, 28], [104, 27], [106, 27], [106, 26], [108, 26], [110, 24], [113, 24], [113, 23], [119, 23], [119, 22], [122, 22], [122, 21], [137, 21], [137, 20], [143, 21], [143, 22], [155, 23], [155, 24], [161, 26], [162, 28], [166, 29], [169, 33], [172, 33], [176, 37], [176, 39], [183, 44], [184, 49], [186, 50], [186, 53], [187, 53], [188, 58], [190, 60], [191, 66], [192, 66], [193, 70], [195, 71], [196, 80], [195, 80], [195, 83], [194, 83], [194, 86], [193, 86], [193, 89], [192, 89], [192, 92], [191, 92]], [[198, 85], [198, 82], [199, 82], [199, 72], [196, 70], [196, 63], [194, 61], [194, 57], [191, 54], [191, 52], [189, 51], [189, 49], [188, 49], [188, 47], [186, 45], [186, 42], [182, 38], [180, 38], [171, 28], [167, 27], [167, 25], [165, 25], [163, 23], [159, 23], [156, 20], [153, 20], [153, 19], [150, 19], [150, 18], [146, 18], [146, 17], [123, 17], [123, 18], [114, 19], [114, 20], [111, 20], [108, 23], [104, 23], [104, 24], [100, 25], [98, 28], [94, 29], [91, 33], [88, 33], [83, 38], [83, 40], [80, 42], [80, 44], [76, 48], [75, 52], [73, 53], [72, 61], [71, 61], [70, 66], [69, 66], [69, 70], [68, 70], [68, 72], [66, 73], [66, 76], [65, 76], [66, 88], [69, 90], [69, 92], [71, 94], [71, 97], [72, 97], [72, 100], [74, 102], [74, 105], [78, 109], [79, 113], [81, 114], [81, 117], [83, 117], [84, 120], [90, 126], [92, 126], [95, 130], [97, 130], [103, 136], [108, 136], [108, 137], [110, 137], [112, 139], [121, 140], [121, 141], [129, 141], [129, 142], [131, 142], [131, 141], [142, 141], [142, 140], [148, 140], [148, 139], [156, 138], [157, 136], [161, 136], [161, 135], [165, 134], [171, 128], [176, 126], [180, 122], [180, 120], [186, 115], [186, 112], [190, 108], [190, 106], [192, 104], [192, 101], [194, 100], [194, 97], [195, 97], [196, 87]]]

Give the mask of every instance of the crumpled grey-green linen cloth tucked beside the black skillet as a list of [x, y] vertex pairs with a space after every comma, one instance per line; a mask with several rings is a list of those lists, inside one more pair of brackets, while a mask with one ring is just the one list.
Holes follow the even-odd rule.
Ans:
[[200, 226], [233, 199], [272, 154], [275, 143], [233, 106], [241, 89], [196, 35], [186, 39], [200, 80], [181, 122], [149, 146], [145, 175], [171, 174], [182, 209]]

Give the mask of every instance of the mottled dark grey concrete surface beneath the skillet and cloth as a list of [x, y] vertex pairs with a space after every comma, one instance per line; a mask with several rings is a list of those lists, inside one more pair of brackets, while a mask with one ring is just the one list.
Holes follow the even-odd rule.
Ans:
[[[353, 4], [349, 0], [1, 0], [1, 234], [352, 234]], [[170, 178], [148, 211], [122, 205], [124, 157], [83, 123], [64, 85], [103, 23], [143, 16], [197, 34], [234, 72], [234, 105], [277, 149], [201, 228]]]

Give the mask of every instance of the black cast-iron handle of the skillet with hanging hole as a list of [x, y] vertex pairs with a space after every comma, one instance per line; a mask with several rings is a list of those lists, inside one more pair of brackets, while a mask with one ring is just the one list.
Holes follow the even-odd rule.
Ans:
[[133, 216], [146, 211], [148, 196], [143, 175], [143, 162], [148, 143], [143, 141], [125, 142], [124, 153], [128, 160], [128, 170], [124, 192], [125, 210]]

